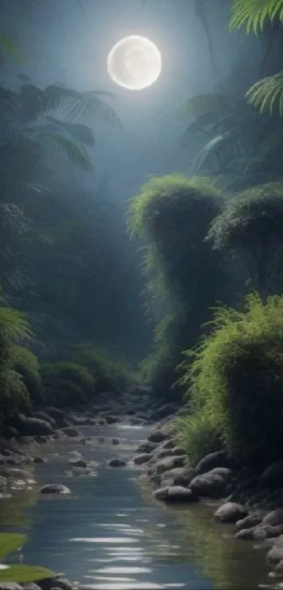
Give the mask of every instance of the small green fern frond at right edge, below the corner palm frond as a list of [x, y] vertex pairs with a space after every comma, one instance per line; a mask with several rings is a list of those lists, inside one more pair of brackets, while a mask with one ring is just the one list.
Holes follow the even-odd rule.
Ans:
[[246, 97], [261, 113], [268, 110], [272, 115], [277, 104], [279, 116], [283, 117], [283, 72], [256, 82], [247, 91]]

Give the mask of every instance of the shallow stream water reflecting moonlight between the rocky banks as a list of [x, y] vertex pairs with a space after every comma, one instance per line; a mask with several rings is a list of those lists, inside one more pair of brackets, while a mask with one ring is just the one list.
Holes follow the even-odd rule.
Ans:
[[112, 448], [56, 442], [42, 449], [50, 461], [37, 466], [37, 480], [62, 483], [72, 496], [37, 501], [35, 492], [1, 501], [1, 530], [27, 532], [13, 556], [24, 563], [65, 572], [83, 588], [97, 590], [254, 590], [268, 582], [266, 550], [232, 539], [230, 527], [212, 520], [213, 505], [168, 508], [152, 501], [130, 468], [97, 468], [93, 477], [67, 477], [67, 451], [107, 461], [133, 455], [133, 444], [150, 429], [81, 428], [85, 435], [126, 439]]

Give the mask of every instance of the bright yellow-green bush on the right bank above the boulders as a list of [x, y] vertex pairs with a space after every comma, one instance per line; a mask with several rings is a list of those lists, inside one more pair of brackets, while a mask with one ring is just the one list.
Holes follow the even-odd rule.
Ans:
[[[263, 303], [252, 293], [242, 311], [217, 309], [212, 326], [180, 365], [190, 411], [197, 412], [183, 422], [181, 437], [195, 454], [207, 424], [207, 440], [212, 429], [212, 440], [215, 434], [232, 456], [262, 468], [283, 456], [283, 297]], [[205, 443], [198, 455], [213, 450]]]

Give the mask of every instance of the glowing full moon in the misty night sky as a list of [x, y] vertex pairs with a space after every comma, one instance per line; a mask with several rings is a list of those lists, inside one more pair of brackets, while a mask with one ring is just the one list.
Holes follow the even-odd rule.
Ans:
[[162, 70], [157, 46], [146, 37], [131, 35], [118, 41], [107, 58], [107, 70], [114, 82], [129, 90], [151, 86]]

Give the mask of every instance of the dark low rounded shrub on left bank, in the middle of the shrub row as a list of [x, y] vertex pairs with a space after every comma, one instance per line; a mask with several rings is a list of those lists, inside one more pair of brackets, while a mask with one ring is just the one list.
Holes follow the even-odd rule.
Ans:
[[55, 406], [84, 404], [93, 395], [95, 380], [88, 369], [65, 361], [41, 365], [44, 399]]

